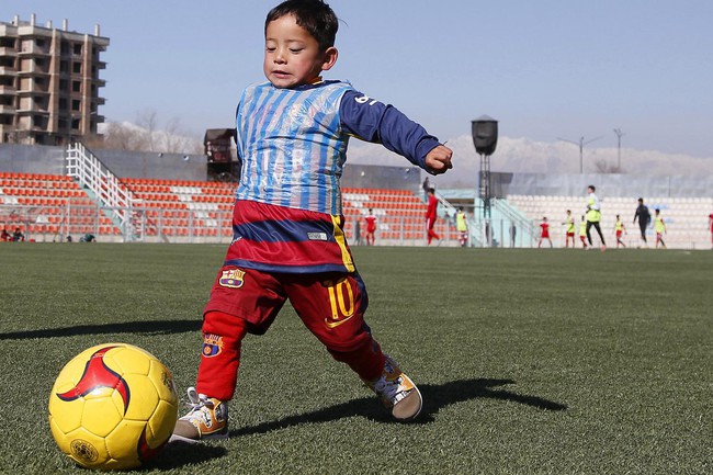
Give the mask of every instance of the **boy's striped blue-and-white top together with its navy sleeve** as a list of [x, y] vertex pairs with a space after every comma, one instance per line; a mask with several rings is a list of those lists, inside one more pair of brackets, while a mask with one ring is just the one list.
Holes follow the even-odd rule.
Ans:
[[350, 136], [381, 143], [423, 168], [439, 142], [396, 108], [342, 81], [248, 87], [237, 111], [238, 200], [340, 215]]

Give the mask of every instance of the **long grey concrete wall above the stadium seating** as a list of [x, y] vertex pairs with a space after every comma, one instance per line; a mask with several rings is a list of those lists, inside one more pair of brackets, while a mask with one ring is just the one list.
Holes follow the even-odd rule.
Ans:
[[[156, 154], [124, 150], [97, 150], [99, 159], [116, 176], [165, 180], [207, 180], [203, 155]], [[0, 171], [65, 173], [63, 147], [0, 144]], [[347, 163], [341, 184], [346, 188], [384, 188], [421, 193], [421, 171], [410, 165], [381, 167]], [[554, 174], [491, 173], [496, 197], [508, 194], [585, 195], [587, 185], [597, 186], [600, 199], [622, 197], [705, 197], [713, 196], [710, 176]], [[476, 189], [473, 189], [475, 196]]]

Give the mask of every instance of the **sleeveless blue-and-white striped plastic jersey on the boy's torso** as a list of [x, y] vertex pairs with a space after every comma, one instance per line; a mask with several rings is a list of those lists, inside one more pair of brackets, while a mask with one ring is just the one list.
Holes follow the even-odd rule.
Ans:
[[341, 214], [339, 179], [349, 135], [339, 105], [346, 82], [247, 88], [237, 112], [238, 200]]

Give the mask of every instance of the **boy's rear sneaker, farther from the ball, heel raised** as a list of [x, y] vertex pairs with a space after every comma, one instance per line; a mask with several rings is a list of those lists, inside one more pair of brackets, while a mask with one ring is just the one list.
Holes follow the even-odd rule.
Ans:
[[382, 375], [375, 381], [364, 383], [381, 397], [384, 407], [392, 409], [392, 416], [396, 420], [412, 420], [421, 411], [421, 393], [389, 355], [386, 355]]

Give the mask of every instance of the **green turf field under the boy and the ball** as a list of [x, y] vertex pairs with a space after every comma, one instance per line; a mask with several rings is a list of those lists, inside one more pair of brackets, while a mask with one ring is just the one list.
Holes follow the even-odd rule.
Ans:
[[[55, 446], [63, 365], [111, 341], [195, 378], [224, 246], [0, 245], [0, 473], [87, 473]], [[244, 343], [230, 439], [142, 473], [710, 474], [713, 252], [355, 248], [367, 321], [419, 384], [389, 420], [286, 307]], [[183, 410], [181, 410], [183, 412]]]

